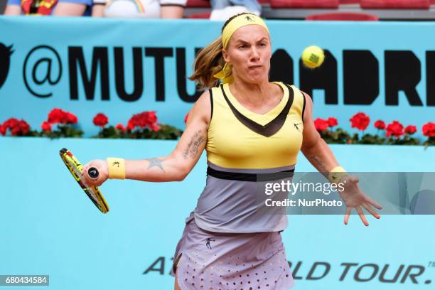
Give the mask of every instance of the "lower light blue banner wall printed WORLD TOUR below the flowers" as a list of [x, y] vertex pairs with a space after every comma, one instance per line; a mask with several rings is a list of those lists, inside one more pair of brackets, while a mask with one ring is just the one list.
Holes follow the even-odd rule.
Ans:
[[[107, 181], [100, 213], [58, 150], [86, 163], [166, 156], [176, 141], [3, 138], [0, 275], [49, 275], [47, 289], [173, 289], [184, 221], [205, 185], [205, 154], [184, 181]], [[433, 171], [434, 148], [331, 145], [349, 171]], [[356, 154], [358, 152], [358, 154]], [[394, 161], [394, 162], [393, 162]], [[401, 170], [399, 170], [401, 169]], [[314, 171], [299, 156], [296, 172]], [[433, 289], [434, 215], [289, 215], [282, 233], [295, 289]], [[26, 288], [24, 288], [26, 287]], [[6, 286], [5, 289], [27, 289]]]

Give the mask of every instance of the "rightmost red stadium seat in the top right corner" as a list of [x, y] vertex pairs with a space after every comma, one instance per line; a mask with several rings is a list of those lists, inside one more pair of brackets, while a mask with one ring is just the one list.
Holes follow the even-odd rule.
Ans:
[[361, 0], [363, 9], [429, 9], [430, 0]]

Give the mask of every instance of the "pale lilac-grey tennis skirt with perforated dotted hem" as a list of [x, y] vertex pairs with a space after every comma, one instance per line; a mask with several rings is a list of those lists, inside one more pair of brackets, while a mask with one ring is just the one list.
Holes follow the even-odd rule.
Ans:
[[280, 232], [208, 232], [186, 221], [174, 255], [181, 290], [285, 290], [294, 286]]

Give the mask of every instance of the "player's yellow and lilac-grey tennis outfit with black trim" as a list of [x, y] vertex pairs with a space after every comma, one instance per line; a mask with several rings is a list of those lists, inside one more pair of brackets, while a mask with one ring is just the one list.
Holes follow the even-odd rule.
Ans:
[[287, 217], [264, 212], [262, 185], [294, 172], [305, 97], [292, 85], [274, 83], [283, 97], [266, 114], [243, 107], [228, 84], [210, 90], [206, 186], [174, 256], [181, 289], [294, 286], [280, 234]]

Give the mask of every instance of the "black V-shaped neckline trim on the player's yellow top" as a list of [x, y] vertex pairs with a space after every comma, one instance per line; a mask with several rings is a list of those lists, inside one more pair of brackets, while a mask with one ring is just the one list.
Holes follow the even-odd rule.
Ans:
[[[235, 115], [235, 117], [246, 127], [251, 129], [252, 131], [256, 132], [257, 134], [269, 137], [275, 134], [286, 122], [287, 115], [289, 114], [291, 105], [294, 101], [294, 90], [292, 87], [290, 87], [287, 84], [284, 84], [289, 90], [289, 100], [287, 100], [286, 105], [282, 109], [282, 111], [269, 123], [265, 125], [258, 124], [257, 122], [252, 121], [252, 119], [249, 119], [244, 114], [237, 111], [237, 109], [232, 105], [230, 100], [228, 100], [227, 94], [225, 94], [225, 90], [223, 88], [223, 85], [220, 85], [220, 89], [222, 90], [222, 95], [225, 98], [225, 101], [227, 101], [228, 106], [230, 107], [232, 114]], [[285, 92], [284, 92], [285, 93]]]

